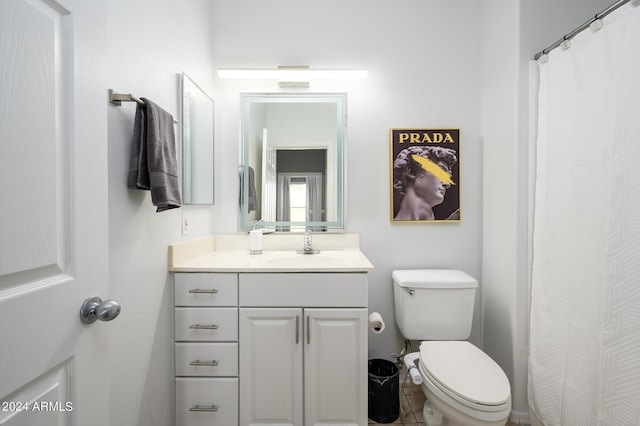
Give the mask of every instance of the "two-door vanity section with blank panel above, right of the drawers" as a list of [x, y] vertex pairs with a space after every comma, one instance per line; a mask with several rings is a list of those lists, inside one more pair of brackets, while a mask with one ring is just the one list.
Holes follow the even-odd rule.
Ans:
[[366, 425], [367, 298], [366, 273], [240, 273], [240, 425]]

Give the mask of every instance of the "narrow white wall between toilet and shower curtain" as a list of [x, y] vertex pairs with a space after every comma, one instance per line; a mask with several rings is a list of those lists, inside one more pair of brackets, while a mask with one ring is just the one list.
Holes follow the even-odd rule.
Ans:
[[484, 349], [510, 378], [515, 421], [528, 417], [528, 154], [529, 134], [535, 131], [530, 128], [535, 125], [530, 120], [535, 116], [535, 99], [529, 94], [530, 61], [611, 3], [483, 2]]

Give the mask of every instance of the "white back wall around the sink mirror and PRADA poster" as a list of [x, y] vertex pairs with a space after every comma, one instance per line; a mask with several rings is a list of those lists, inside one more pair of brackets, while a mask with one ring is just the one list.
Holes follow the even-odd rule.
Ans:
[[[475, 0], [300, 2], [272, 0], [213, 4], [216, 68], [310, 65], [369, 69], [355, 82], [312, 82], [310, 92], [348, 93], [347, 227], [361, 235], [376, 269], [369, 304], [387, 322], [371, 335], [369, 355], [401, 349], [395, 327], [391, 271], [460, 268], [480, 277], [482, 146], [480, 138], [481, 3]], [[215, 80], [218, 105], [217, 232], [237, 231], [238, 98], [277, 92], [275, 82]], [[462, 222], [390, 223], [389, 129], [460, 128]], [[472, 339], [480, 342], [480, 315]]]

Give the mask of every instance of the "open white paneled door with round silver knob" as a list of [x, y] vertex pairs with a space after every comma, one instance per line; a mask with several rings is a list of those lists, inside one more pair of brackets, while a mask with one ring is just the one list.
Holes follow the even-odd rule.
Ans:
[[0, 0], [0, 425], [109, 424], [104, 4]]

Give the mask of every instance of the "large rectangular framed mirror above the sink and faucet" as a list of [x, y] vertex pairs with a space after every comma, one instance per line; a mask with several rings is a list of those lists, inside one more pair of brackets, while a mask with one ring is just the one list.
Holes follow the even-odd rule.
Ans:
[[241, 94], [243, 230], [344, 230], [346, 94]]

